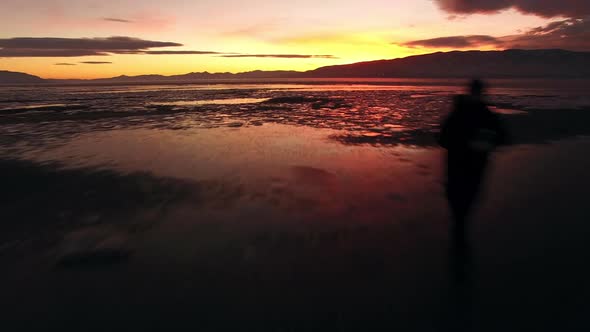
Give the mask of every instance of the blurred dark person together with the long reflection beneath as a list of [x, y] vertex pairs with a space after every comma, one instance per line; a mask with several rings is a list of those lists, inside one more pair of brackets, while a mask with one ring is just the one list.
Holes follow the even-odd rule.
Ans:
[[499, 116], [484, 101], [484, 84], [473, 80], [469, 94], [454, 99], [444, 120], [439, 144], [447, 150], [446, 194], [453, 217], [451, 224], [451, 272], [454, 331], [471, 327], [471, 250], [468, 218], [477, 200], [490, 153], [507, 141]]

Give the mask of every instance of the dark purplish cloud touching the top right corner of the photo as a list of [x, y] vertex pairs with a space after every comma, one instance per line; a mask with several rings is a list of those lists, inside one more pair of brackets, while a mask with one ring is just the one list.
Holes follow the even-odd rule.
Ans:
[[579, 18], [590, 15], [588, 0], [435, 0], [451, 14], [495, 13], [513, 8], [543, 17]]

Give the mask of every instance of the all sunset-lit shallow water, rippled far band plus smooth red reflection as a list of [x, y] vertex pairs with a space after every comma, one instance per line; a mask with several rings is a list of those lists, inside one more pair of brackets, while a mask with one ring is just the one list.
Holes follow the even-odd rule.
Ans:
[[[222, 189], [211, 201], [229, 195], [242, 208], [313, 211], [311, 219], [383, 222], [415, 213], [419, 201], [443, 210], [435, 135], [462, 87], [378, 83], [8, 88], [0, 157], [212, 181]], [[590, 135], [590, 112], [575, 110], [588, 98], [578, 87], [522, 83], [489, 95], [516, 144]], [[562, 99], [574, 110], [535, 110]], [[242, 208], [228, 212], [238, 218]]]

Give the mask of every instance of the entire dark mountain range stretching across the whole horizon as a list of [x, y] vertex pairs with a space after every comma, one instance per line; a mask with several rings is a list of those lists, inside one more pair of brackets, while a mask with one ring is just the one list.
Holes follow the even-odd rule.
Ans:
[[184, 75], [118, 76], [93, 80], [54, 80], [0, 71], [0, 83], [149, 83], [209, 79], [287, 78], [590, 78], [590, 52], [549, 50], [452, 51], [393, 60], [359, 62], [299, 71], [188, 73]]

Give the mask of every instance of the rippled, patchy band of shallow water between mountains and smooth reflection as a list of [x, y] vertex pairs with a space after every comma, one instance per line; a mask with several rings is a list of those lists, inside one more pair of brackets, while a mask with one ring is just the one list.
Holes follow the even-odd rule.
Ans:
[[[489, 100], [499, 113], [512, 116], [538, 109], [586, 109], [590, 96], [583, 83], [505, 80], [490, 91]], [[5, 87], [0, 91], [0, 153], [41, 152], [92, 132], [266, 124], [293, 126], [293, 135], [303, 127], [329, 129], [331, 138], [343, 144], [432, 146], [452, 95], [463, 90], [460, 84], [378, 80]]]

